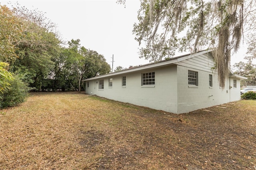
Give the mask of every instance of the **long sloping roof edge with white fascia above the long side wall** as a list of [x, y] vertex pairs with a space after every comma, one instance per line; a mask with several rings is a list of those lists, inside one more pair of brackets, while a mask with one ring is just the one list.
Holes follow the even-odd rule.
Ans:
[[134, 68], [134, 69], [128, 69], [128, 70], [120, 71], [120, 72], [116, 72], [116, 73], [108, 73], [108, 74], [105, 74], [105, 75], [100, 75], [100, 76], [92, 77], [92, 78], [89, 78], [89, 79], [84, 79], [82, 81], [102, 79], [102, 78], [105, 78], [105, 77], [112, 77], [112, 76], [115, 76], [115, 75], [122, 75], [122, 74], [136, 72], [136, 71], [140, 71], [140, 70], [144, 70], [144, 69], [151, 69], [151, 68], [155, 68], [155, 67], [163, 67], [163, 66], [166, 66], [166, 65], [175, 64], [179, 61], [183, 61], [183, 60], [195, 57], [197, 55], [208, 53], [208, 52], [213, 51], [213, 50], [214, 49], [207, 49], [207, 50], [200, 51], [198, 53], [193, 53], [193, 54], [190, 54], [190, 55], [186, 55], [184, 57], [180, 57], [180, 58], [177, 58], [177, 59], [171, 59], [169, 61], [164, 61], [164, 62], [155, 63], [155, 64], [152, 63], [150, 65], [145, 65], [145, 66]]

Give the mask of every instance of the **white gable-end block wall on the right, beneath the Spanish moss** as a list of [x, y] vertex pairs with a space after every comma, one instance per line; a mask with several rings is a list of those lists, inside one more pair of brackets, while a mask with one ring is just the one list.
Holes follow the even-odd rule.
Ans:
[[[200, 55], [178, 64], [177, 113], [188, 113], [197, 109], [240, 100], [240, 80], [236, 80], [237, 88], [230, 89], [230, 86], [233, 87], [233, 78], [227, 77], [225, 87], [221, 88], [218, 74], [212, 69], [214, 67], [212, 57]], [[198, 86], [188, 85], [188, 70], [198, 72]], [[212, 75], [212, 87], [209, 86], [209, 75]]]

